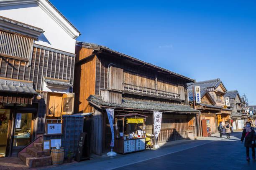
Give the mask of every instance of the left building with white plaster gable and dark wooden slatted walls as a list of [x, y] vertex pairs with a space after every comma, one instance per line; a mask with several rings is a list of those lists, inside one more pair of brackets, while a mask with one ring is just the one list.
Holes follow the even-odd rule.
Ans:
[[38, 1], [0, 2], [0, 154], [9, 157], [44, 134], [47, 117], [61, 117], [73, 95], [79, 31]]

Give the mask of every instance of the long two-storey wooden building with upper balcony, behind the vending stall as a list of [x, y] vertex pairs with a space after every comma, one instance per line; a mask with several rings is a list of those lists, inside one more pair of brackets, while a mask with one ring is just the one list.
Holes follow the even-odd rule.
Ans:
[[187, 83], [194, 82], [156, 65], [116, 52], [108, 47], [77, 42], [74, 73], [75, 113], [94, 114], [92, 153], [110, 150], [111, 131], [106, 108], [115, 115], [147, 116], [146, 133], [153, 133], [153, 111], [163, 112], [158, 143], [196, 137], [195, 115], [187, 96]]

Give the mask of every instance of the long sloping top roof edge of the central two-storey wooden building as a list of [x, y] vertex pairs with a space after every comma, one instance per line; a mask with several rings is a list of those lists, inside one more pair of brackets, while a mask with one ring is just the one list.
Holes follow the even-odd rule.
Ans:
[[162, 68], [162, 67], [159, 67], [159, 66], [150, 64], [150, 63], [148, 63], [148, 62], [139, 60], [138, 58], [131, 57], [130, 55], [126, 55], [126, 54], [123, 54], [123, 53], [121, 53], [121, 52], [118, 52], [118, 51], [115, 51], [115, 50], [111, 50], [110, 48], [108, 48], [108, 47], [106, 47], [106, 46], [103, 46], [103, 45], [97, 45], [97, 44], [93, 44], [93, 43], [80, 42], [80, 41], [77, 41], [76, 43], [77, 43], [77, 45], [85, 45], [85, 46], [87, 46], [88, 48], [97, 48], [97, 50], [100, 50], [100, 48], [102, 48], [102, 49], [104, 49], [104, 50], [110, 51], [111, 53], [116, 53], [116, 54], [119, 55], [119, 56], [122, 55], [123, 57], [128, 57], [128, 58], [130, 58], [130, 59], [132, 59], [132, 60], [136, 60], [136, 61], [138, 61], [138, 62], [142, 62], [144, 65], [145, 65], [145, 64], [146, 64], [146, 65], [150, 65], [151, 67], [160, 69], [160, 70], [162, 70], [162, 71], [169, 72], [169, 73], [171, 73], [171, 74], [173, 74], [173, 75], [177, 75], [178, 77], [182, 77], [182, 78], [188, 80], [188, 82], [195, 82], [195, 80], [192, 79], [192, 78], [186, 77], [186, 76], [181, 75], [181, 74], [178, 74], [178, 73], [176, 73], [176, 72], [172, 72], [172, 71], [170, 71], [170, 70], [166, 70], [166, 69], [164, 69], [164, 68]]

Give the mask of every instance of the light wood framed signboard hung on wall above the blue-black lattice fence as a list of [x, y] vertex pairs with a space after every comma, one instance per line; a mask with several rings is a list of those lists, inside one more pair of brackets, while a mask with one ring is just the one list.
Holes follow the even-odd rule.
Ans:
[[74, 113], [74, 93], [62, 95], [62, 115], [72, 115]]

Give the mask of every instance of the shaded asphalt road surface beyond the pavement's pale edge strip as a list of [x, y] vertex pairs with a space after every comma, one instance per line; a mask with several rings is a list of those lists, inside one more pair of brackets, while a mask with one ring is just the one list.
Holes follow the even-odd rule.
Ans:
[[195, 148], [161, 156], [115, 170], [256, 170], [256, 162], [246, 161], [241, 133], [231, 140], [218, 140]]

